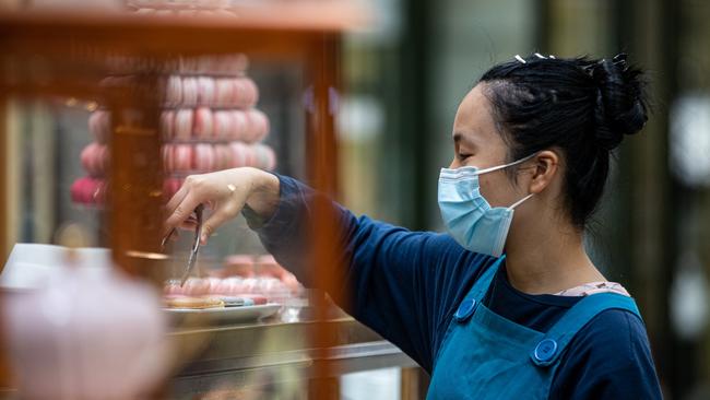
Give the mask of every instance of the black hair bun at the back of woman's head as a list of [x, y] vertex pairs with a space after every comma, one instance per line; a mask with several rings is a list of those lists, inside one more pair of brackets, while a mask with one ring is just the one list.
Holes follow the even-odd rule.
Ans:
[[596, 139], [607, 150], [618, 146], [624, 134], [641, 130], [648, 120], [642, 72], [629, 67], [626, 58], [620, 54], [613, 60], [590, 66], [599, 89], [594, 109]]

